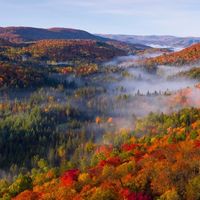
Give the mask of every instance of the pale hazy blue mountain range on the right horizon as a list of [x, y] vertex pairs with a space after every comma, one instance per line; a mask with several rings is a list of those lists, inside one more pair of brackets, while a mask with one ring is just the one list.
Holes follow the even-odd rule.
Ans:
[[200, 42], [200, 37], [175, 37], [175, 36], [138, 36], [138, 35], [102, 35], [109, 39], [119, 40], [132, 44], [143, 44], [153, 47], [188, 47]]

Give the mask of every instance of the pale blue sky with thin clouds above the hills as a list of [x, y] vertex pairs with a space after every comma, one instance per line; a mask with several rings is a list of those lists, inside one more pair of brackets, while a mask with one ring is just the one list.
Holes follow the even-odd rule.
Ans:
[[0, 0], [0, 26], [200, 36], [200, 0]]

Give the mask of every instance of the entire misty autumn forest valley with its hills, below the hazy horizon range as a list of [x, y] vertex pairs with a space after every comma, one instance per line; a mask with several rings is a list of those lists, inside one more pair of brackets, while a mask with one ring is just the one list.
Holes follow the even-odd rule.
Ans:
[[0, 199], [199, 200], [200, 43], [174, 47], [0, 28]]

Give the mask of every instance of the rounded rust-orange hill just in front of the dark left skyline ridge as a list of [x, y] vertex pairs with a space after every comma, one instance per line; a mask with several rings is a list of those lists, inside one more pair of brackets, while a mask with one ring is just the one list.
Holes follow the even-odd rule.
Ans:
[[102, 62], [127, 55], [126, 51], [97, 40], [40, 40], [16, 49], [15, 53], [10, 57], [20, 58], [27, 54], [29, 60], [57, 62]]

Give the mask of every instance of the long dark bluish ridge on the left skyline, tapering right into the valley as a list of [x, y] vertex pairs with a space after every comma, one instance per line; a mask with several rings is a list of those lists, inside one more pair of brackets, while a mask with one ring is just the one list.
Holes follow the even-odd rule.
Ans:
[[[1, 42], [2, 40], [2, 42]], [[33, 27], [0, 27], [0, 46], [28, 45], [40, 40], [94, 40], [105, 42], [127, 54], [150, 49], [142, 44], [129, 44], [109, 38], [93, 35], [83, 30], [69, 28], [33, 28]], [[4, 42], [3, 42], [4, 41]], [[2, 43], [2, 44], [1, 44]]]

